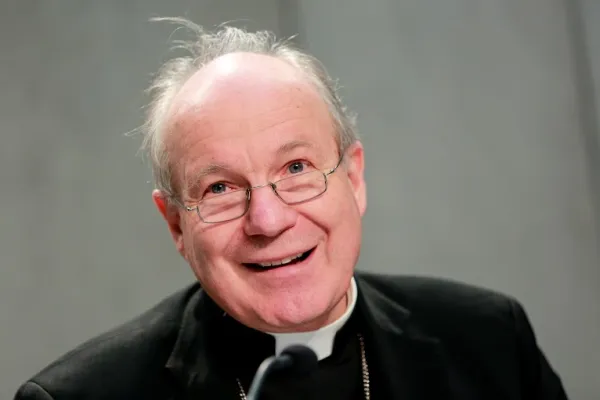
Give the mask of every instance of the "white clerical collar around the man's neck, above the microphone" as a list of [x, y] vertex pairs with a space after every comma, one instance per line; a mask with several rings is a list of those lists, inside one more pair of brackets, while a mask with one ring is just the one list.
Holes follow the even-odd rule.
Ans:
[[275, 337], [275, 354], [279, 355], [283, 349], [290, 345], [301, 344], [311, 348], [317, 358], [323, 360], [331, 355], [333, 351], [333, 343], [335, 335], [344, 326], [356, 305], [357, 298], [356, 282], [352, 278], [350, 288], [348, 289], [348, 308], [346, 312], [333, 321], [329, 325], [311, 332], [296, 332], [296, 333], [269, 333]]

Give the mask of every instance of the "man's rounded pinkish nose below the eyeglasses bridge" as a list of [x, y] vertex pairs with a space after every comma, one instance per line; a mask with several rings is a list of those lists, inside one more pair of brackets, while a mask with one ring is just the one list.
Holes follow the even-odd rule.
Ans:
[[298, 213], [281, 201], [270, 185], [255, 188], [250, 196], [244, 223], [246, 235], [276, 237], [296, 224]]

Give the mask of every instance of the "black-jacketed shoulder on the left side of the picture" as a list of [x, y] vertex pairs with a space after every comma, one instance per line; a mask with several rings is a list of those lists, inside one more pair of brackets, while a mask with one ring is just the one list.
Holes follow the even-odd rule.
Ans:
[[131, 387], [126, 381], [158, 377], [177, 339], [184, 309], [197, 292], [198, 285], [190, 285], [130, 321], [82, 343], [32, 377], [16, 398], [29, 398], [25, 393], [32, 387], [50, 396], [58, 393], [61, 397], [88, 398], [87, 393], [103, 393], [106, 397], [119, 388]]

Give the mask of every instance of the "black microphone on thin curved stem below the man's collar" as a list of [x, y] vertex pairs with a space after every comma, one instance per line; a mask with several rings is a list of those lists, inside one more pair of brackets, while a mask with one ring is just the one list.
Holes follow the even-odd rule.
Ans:
[[279, 356], [271, 356], [260, 364], [250, 385], [246, 400], [258, 399], [260, 390], [269, 373], [290, 369], [291, 373], [304, 375], [317, 369], [317, 363], [317, 355], [312, 349], [302, 345], [286, 347]]

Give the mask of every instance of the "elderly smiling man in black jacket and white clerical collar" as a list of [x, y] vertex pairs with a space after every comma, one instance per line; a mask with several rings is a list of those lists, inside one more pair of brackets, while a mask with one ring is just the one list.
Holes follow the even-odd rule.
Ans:
[[198, 283], [61, 357], [16, 399], [245, 399], [265, 358], [314, 350], [262, 399], [566, 399], [522, 307], [355, 272], [364, 151], [334, 82], [271, 34], [195, 32], [151, 87], [152, 198]]

